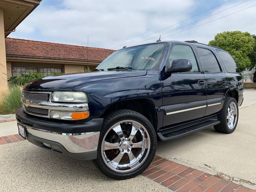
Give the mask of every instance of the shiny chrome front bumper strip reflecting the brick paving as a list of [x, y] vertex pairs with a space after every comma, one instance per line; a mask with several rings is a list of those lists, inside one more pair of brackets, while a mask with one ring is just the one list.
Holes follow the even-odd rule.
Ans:
[[[97, 151], [98, 148], [100, 132], [59, 133], [36, 129], [25, 124], [22, 125], [26, 127], [29, 134], [38, 138], [60, 143], [69, 153], [87, 153]], [[62, 152], [56, 146], [52, 145], [51, 148]]]

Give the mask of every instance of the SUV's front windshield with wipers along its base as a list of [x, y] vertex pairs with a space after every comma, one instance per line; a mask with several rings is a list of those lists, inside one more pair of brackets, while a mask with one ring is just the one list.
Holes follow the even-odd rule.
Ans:
[[107, 71], [108, 69], [131, 68], [132, 70], [156, 69], [160, 60], [165, 43], [147, 44], [122, 49], [111, 54], [97, 69]]

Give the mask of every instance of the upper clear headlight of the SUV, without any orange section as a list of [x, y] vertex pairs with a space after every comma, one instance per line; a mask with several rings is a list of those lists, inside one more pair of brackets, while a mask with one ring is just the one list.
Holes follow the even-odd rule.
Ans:
[[88, 103], [87, 95], [84, 92], [54, 91], [51, 99], [53, 102]]

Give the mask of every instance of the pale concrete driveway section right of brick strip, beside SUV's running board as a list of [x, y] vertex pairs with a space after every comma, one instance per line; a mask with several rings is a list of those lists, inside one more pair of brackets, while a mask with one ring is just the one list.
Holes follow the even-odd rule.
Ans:
[[213, 127], [177, 140], [158, 142], [156, 155], [212, 174], [256, 183], [256, 90], [244, 90], [239, 120], [232, 134]]

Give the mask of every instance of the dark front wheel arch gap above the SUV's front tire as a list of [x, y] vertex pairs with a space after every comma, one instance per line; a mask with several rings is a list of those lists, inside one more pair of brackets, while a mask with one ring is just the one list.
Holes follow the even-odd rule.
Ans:
[[156, 108], [153, 101], [145, 98], [118, 101], [108, 106], [108, 108], [106, 108], [106, 110], [104, 111], [102, 117], [106, 117], [112, 111], [115, 111], [118, 109], [130, 109], [140, 113], [150, 121], [150, 123], [153, 125], [154, 129], [156, 130], [157, 114], [156, 114]]

